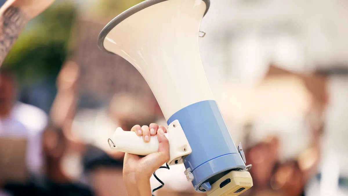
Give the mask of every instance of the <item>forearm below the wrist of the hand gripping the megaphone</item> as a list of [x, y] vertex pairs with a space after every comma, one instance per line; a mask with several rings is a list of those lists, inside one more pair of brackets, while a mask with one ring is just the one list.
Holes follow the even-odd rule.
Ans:
[[152, 196], [150, 179], [139, 176], [124, 175], [124, 182], [128, 196]]

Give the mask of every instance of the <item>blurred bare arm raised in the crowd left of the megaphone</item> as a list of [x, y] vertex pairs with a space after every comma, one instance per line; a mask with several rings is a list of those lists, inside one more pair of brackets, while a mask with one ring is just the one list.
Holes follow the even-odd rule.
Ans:
[[77, 104], [76, 81], [79, 77], [79, 66], [71, 59], [66, 60], [57, 76], [57, 94], [50, 109], [50, 118], [55, 126], [62, 127], [68, 140], [68, 150], [63, 157], [64, 169], [70, 176], [79, 178], [81, 153], [85, 144], [73, 137], [71, 124]]

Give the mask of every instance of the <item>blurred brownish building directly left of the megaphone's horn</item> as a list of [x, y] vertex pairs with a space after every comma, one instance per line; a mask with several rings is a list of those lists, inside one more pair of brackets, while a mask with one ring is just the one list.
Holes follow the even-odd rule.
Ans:
[[73, 59], [80, 67], [78, 89], [82, 104], [86, 96], [107, 101], [105, 99], [111, 99], [120, 92], [136, 93], [143, 98], [153, 97], [144, 78], [128, 61], [98, 48], [98, 35], [108, 22], [89, 18], [77, 21]]

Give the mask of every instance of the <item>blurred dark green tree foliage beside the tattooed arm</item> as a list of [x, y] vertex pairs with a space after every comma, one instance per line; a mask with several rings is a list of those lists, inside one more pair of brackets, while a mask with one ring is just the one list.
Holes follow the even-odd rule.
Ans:
[[27, 25], [3, 66], [13, 68], [22, 84], [56, 77], [69, 54], [75, 16], [72, 3], [52, 5]]

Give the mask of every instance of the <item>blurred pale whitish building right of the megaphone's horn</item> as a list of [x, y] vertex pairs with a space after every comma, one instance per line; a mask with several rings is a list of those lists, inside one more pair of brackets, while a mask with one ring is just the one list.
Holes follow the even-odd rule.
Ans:
[[347, 65], [347, 8], [343, 0], [211, 1], [200, 27], [209, 82], [253, 84], [272, 62], [306, 72]]

